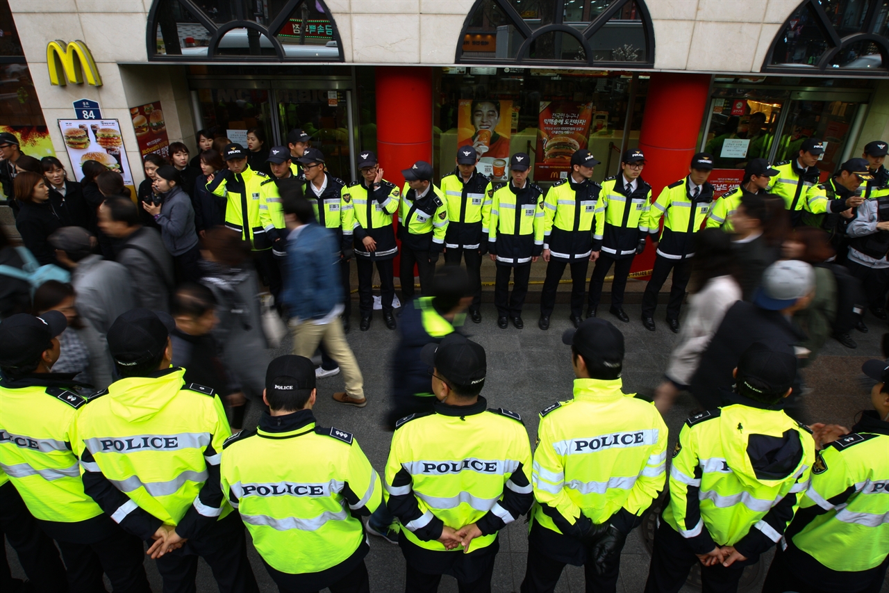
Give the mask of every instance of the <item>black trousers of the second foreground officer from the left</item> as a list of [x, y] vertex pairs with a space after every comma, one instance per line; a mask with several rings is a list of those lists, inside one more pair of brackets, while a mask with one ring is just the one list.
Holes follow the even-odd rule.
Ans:
[[203, 535], [157, 558], [157, 572], [164, 578], [164, 593], [195, 593], [197, 558], [210, 565], [220, 593], [259, 593], [250, 561], [244, 524], [237, 511], [220, 519]]

